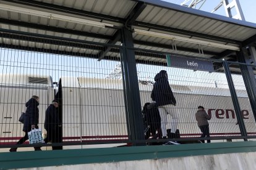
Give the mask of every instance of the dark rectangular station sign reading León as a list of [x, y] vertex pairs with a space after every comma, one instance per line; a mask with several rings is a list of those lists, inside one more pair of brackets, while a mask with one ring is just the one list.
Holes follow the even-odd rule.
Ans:
[[215, 71], [213, 63], [206, 60], [198, 60], [187, 57], [177, 57], [166, 54], [168, 67], [188, 68], [192, 70]]

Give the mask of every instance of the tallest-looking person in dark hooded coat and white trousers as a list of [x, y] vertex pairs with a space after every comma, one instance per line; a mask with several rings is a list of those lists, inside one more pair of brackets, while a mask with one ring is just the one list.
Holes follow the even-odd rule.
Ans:
[[161, 117], [161, 131], [163, 138], [167, 136], [166, 125], [168, 123], [167, 114], [171, 119], [171, 134], [175, 136], [177, 130], [177, 116], [174, 106], [176, 106], [176, 99], [171, 90], [171, 86], [168, 82], [168, 75], [165, 70], [161, 70], [155, 76], [155, 83], [151, 92], [151, 99], [158, 105], [158, 110]]

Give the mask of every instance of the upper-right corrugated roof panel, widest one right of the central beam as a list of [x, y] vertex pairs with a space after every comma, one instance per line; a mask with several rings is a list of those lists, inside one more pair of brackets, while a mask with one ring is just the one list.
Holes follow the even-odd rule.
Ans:
[[222, 38], [235, 39], [237, 41], [244, 41], [256, 34], [256, 29], [248, 28], [247, 26], [226, 23], [154, 6], [147, 6], [137, 18], [137, 21], [194, 31], [196, 33], [209, 34], [212, 36], [220, 36]]

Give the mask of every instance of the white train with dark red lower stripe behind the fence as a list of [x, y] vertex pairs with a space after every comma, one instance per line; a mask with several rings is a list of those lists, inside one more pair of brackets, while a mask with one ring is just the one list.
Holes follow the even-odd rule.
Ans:
[[[23, 124], [18, 119], [32, 95], [40, 97], [40, 127], [44, 129], [45, 110], [57, 90], [51, 76], [0, 75], [0, 80], [0, 144], [15, 144], [23, 136]], [[122, 80], [75, 77], [61, 80], [64, 142], [128, 139]], [[143, 107], [145, 102], [151, 102], [153, 86], [139, 84], [139, 87]], [[171, 87], [177, 100], [175, 110], [181, 137], [199, 136], [195, 121], [198, 105], [203, 105], [212, 115], [211, 136], [240, 136], [229, 89], [174, 84]], [[256, 125], [247, 92], [237, 90], [237, 96], [247, 132], [254, 136]]]

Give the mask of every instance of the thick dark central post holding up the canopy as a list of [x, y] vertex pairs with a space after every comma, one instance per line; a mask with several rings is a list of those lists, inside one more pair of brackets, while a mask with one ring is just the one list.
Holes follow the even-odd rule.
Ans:
[[121, 29], [122, 41], [122, 71], [124, 75], [124, 89], [126, 93], [127, 123], [129, 126], [129, 137], [134, 145], [145, 145], [137, 143], [137, 140], [144, 140], [142, 108], [140, 103], [140, 91], [135, 60], [134, 42], [132, 32], [128, 28]]

